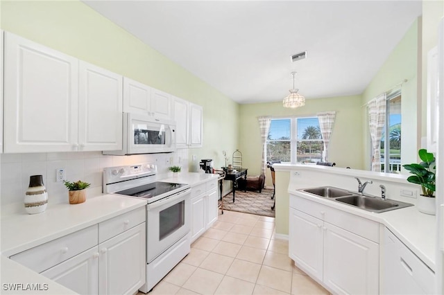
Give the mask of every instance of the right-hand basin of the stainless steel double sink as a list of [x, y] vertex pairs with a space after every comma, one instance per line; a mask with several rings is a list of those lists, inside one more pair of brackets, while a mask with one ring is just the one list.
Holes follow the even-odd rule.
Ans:
[[413, 206], [413, 204], [399, 202], [395, 200], [379, 199], [377, 197], [352, 195], [348, 197], [338, 197], [336, 201], [364, 209], [375, 213], [391, 211], [399, 208]]

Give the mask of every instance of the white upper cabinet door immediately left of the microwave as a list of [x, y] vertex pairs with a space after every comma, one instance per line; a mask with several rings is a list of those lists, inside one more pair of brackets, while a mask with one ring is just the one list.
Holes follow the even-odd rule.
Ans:
[[80, 61], [79, 150], [122, 149], [122, 76]]

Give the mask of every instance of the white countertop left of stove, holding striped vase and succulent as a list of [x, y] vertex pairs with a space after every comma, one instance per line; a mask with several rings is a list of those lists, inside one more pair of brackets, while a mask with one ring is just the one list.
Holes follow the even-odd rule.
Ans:
[[101, 195], [82, 204], [48, 204], [39, 214], [2, 214], [0, 251], [9, 257], [145, 205], [145, 199]]

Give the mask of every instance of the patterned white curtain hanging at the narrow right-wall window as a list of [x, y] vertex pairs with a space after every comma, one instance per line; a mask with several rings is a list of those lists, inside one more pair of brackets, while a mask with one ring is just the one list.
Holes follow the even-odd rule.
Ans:
[[372, 138], [372, 171], [381, 172], [381, 138], [386, 123], [386, 93], [368, 102], [368, 125]]

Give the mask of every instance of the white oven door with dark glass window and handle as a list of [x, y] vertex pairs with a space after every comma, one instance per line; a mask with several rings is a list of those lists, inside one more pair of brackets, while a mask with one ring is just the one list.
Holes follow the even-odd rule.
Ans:
[[150, 263], [189, 233], [191, 190], [183, 190], [146, 206], [146, 259]]

